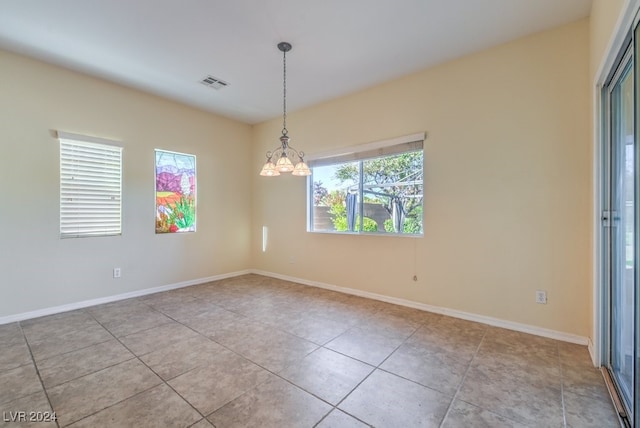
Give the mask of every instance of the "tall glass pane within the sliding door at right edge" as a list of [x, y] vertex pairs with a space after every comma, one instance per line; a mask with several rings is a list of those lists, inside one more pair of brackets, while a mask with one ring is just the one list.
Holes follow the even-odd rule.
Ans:
[[611, 368], [627, 408], [633, 403], [635, 159], [631, 66], [614, 86], [612, 107]]

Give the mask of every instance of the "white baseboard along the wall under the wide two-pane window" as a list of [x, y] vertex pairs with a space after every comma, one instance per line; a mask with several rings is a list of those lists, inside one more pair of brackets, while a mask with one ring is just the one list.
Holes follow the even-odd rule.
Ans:
[[501, 327], [508, 330], [520, 331], [522, 333], [529, 333], [536, 336], [547, 337], [550, 339], [560, 340], [562, 342], [575, 343], [578, 345], [588, 345], [590, 342], [587, 337], [578, 336], [576, 334], [564, 333], [561, 331], [550, 330], [547, 328], [532, 326], [528, 324], [521, 324], [513, 321], [502, 320], [499, 318], [488, 317], [485, 315], [472, 314], [469, 312], [443, 308], [440, 306], [427, 305], [425, 303], [414, 302], [411, 300], [400, 299], [397, 297], [385, 296], [383, 294], [370, 293], [368, 291], [356, 290], [354, 288], [340, 287], [333, 284], [326, 284], [318, 281], [310, 281], [303, 278], [295, 278], [288, 275], [281, 275], [278, 273], [267, 272], [267, 271], [262, 271], [257, 269], [250, 269], [250, 272], [258, 275], [264, 275], [272, 278], [282, 279], [285, 281], [297, 282], [299, 284], [309, 285], [312, 287], [325, 288], [327, 290], [333, 290], [341, 293], [352, 294], [354, 296], [367, 297], [369, 299], [380, 300], [382, 302], [394, 303], [396, 305], [407, 306], [410, 308], [420, 309], [427, 312], [447, 315], [450, 317], [460, 318], [467, 321], [475, 321], [482, 324], [491, 325], [494, 327]]

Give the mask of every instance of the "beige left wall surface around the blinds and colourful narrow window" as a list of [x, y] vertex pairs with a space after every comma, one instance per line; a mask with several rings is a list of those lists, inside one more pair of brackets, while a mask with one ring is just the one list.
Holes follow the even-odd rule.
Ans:
[[[250, 267], [250, 126], [8, 52], [0, 70], [0, 317]], [[123, 142], [122, 236], [59, 238], [53, 130]], [[196, 233], [155, 235], [154, 148], [197, 156]]]

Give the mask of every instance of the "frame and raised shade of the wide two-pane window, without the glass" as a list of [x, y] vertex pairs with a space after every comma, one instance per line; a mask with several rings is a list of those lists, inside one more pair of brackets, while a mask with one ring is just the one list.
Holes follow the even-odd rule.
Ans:
[[[312, 170], [312, 175], [307, 177], [307, 232], [309, 233], [323, 233], [323, 234], [336, 234], [336, 235], [364, 235], [364, 236], [391, 236], [391, 237], [408, 237], [408, 238], [420, 238], [424, 236], [424, 140], [426, 139], [426, 133], [417, 133], [397, 137], [389, 140], [377, 141], [373, 143], [361, 144], [351, 147], [346, 147], [338, 150], [332, 150], [323, 153], [312, 154], [308, 156], [309, 168]], [[364, 216], [364, 164], [369, 160], [380, 159], [382, 157], [391, 157], [394, 155], [401, 155], [404, 153], [412, 153], [420, 151], [422, 153], [422, 212], [421, 216], [421, 231], [420, 233], [398, 233], [398, 232], [367, 232], [363, 230], [362, 219]], [[317, 167], [340, 165], [345, 163], [358, 163], [359, 177], [355, 185], [358, 186], [357, 200], [357, 218], [360, 218], [360, 226], [358, 230], [353, 231], [337, 231], [337, 230], [315, 230], [314, 229], [314, 174], [313, 170]], [[346, 201], [345, 201], [346, 203]], [[358, 221], [356, 219], [356, 221]], [[383, 225], [378, 225], [378, 229]]]

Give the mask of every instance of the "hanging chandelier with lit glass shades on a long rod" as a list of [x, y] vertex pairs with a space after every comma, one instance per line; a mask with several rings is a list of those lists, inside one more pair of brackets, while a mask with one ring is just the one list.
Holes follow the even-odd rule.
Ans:
[[[289, 145], [289, 131], [287, 130], [287, 52], [291, 50], [291, 44], [287, 42], [278, 43], [278, 49], [282, 51], [282, 135], [280, 136], [280, 146], [273, 151], [267, 152], [267, 161], [260, 171], [260, 175], [265, 177], [275, 177], [281, 172], [290, 172], [292, 175], [311, 175], [309, 166], [304, 162], [304, 152], [297, 151]], [[291, 158], [296, 162], [295, 166]], [[274, 163], [275, 160], [275, 163]]]

